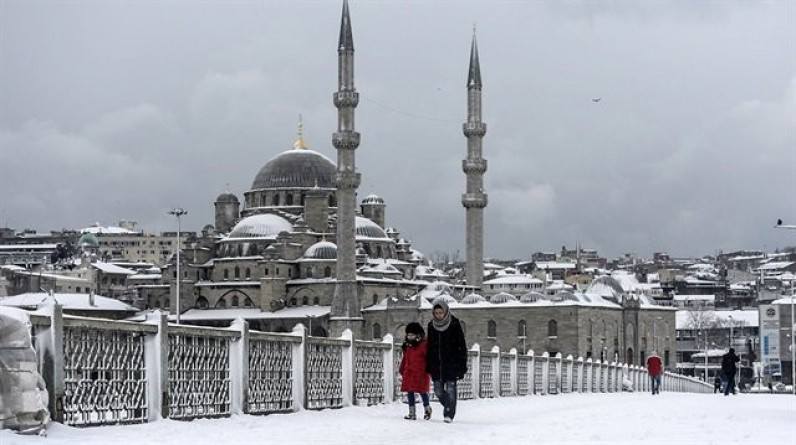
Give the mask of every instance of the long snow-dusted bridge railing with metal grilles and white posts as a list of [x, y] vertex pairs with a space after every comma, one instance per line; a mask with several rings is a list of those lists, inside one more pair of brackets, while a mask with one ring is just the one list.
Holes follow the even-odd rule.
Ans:
[[[400, 400], [401, 348], [383, 341], [309, 337], [169, 324], [31, 315], [39, 368], [53, 420], [71, 426], [289, 413]], [[535, 355], [498, 347], [468, 351], [461, 399], [648, 390], [643, 368]], [[710, 392], [699, 380], [666, 373], [666, 391]], [[433, 397], [433, 394], [432, 394]]]

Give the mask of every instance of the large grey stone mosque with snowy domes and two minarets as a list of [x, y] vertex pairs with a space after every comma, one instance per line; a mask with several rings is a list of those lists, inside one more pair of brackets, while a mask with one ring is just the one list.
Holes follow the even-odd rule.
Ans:
[[[430, 302], [445, 298], [461, 319], [468, 343], [485, 350], [499, 346], [630, 363], [643, 363], [658, 351], [667, 369], [675, 368], [675, 311], [629, 293], [610, 277], [596, 280], [584, 293], [454, 297], [449, 277], [388, 224], [383, 199], [370, 195], [356, 202], [359, 95], [347, 0], [338, 60], [333, 103], [339, 127], [332, 135], [337, 162], [308, 148], [300, 122], [292, 148], [259, 170], [242, 201], [229, 192], [216, 198], [214, 225], [182, 249], [179, 298], [174, 298], [174, 262], [163, 274], [166, 284], [139, 289], [149, 308], [169, 309], [173, 317], [179, 312], [186, 324], [228, 326], [243, 318], [262, 331], [287, 332], [302, 323], [315, 336], [351, 329], [357, 338], [380, 339], [385, 334], [400, 338], [411, 321], [425, 325]], [[478, 291], [487, 163], [475, 35], [466, 86], [466, 276]]]

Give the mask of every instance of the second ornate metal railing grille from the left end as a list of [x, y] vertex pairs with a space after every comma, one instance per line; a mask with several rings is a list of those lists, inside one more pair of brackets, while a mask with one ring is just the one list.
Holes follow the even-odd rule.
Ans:
[[229, 415], [229, 338], [169, 335], [169, 418]]

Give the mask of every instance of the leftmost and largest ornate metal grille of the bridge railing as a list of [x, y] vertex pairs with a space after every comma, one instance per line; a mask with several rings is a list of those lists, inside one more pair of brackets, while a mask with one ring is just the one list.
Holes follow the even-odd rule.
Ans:
[[146, 422], [144, 334], [64, 327], [64, 423]]

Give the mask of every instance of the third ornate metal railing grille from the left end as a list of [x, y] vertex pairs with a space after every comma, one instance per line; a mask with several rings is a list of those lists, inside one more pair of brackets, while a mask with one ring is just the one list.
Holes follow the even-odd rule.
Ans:
[[249, 340], [249, 414], [293, 411], [293, 345]]

